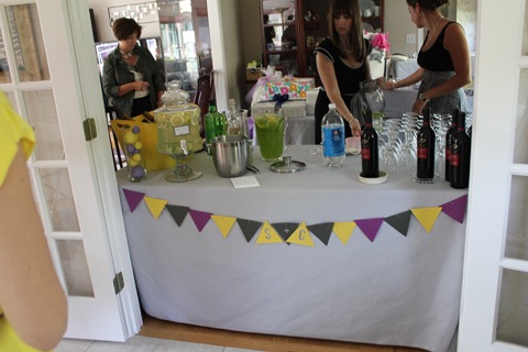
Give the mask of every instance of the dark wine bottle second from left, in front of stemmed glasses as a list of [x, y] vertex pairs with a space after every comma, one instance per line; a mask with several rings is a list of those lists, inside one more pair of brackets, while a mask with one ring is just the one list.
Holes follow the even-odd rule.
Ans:
[[418, 179], [435, 178], [435, 131], [431, 129], [431, 109], [426, 107], [424, 109], [424, 123], [418, 132], [418, 152], [416, 177]]

